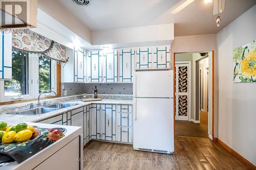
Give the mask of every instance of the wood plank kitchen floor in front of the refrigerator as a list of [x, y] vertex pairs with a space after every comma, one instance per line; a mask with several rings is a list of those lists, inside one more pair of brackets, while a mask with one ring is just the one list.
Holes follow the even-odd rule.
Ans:
[[249, 169], [219, 143], [177, 136], [174, 155], [134, 151], [129, 144], [91, 141], [84, 169]]

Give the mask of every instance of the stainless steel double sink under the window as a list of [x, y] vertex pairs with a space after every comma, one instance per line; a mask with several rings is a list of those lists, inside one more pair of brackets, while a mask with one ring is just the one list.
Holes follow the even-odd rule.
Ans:
[[50, 105], [50, 106], [38, 107], [38, 108], [30, 109], [30, 110], [24, 110], [24, 111], [8, 113], [8, 114], [37, 115], [37, 114], [49, 113], [49, 112], [67, 108], [67, 107], [72, 107], [75, 105], [78, 105], [78, 104], [71, 104], [71, 103], [54, 104], [54, 105]]

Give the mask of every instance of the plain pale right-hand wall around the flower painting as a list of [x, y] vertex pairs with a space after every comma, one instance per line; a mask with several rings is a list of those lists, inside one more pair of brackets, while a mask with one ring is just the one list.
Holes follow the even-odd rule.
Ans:
[[[256, 40], [256, 6], [217, 34], [218, 138], [256, 165], [256, 83], [233, 83], [233, 49]], [[225, 18], [223, 18], [225, 19]]]

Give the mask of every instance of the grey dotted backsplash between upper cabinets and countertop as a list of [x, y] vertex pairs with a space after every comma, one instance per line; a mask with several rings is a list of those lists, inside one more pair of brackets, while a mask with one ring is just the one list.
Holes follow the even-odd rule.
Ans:
[[95, 86], [98, 94], [133, 94], [132, 83], [62, 83], [61, 96], [64, 96], [64, 90], [68, 95], [93, 94]]

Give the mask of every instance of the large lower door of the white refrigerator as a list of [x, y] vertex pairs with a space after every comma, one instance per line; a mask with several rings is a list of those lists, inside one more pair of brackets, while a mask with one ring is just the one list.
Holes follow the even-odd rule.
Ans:
[[174, 100], [134, 99], [133, 147], [155, 152], [174, 151]]

